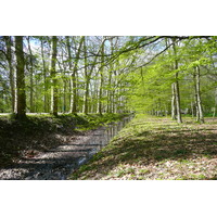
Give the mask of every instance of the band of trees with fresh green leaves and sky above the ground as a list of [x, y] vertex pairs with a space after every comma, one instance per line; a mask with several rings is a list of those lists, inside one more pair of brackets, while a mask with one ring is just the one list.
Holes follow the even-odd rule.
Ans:
[[0, 38], [0, 112], [216, 115], [216, 37]]

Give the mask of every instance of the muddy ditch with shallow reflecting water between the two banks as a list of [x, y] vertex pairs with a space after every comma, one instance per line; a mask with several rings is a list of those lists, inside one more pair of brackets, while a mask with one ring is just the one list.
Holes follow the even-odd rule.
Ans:
[[101, 126], [76, 136], [67, 144], [47, 152], [18, 159], [8, 168], [0, 169], [1, 180], [66, 180], [67, 176], [87, 163], [100, 149], [131, 119]]

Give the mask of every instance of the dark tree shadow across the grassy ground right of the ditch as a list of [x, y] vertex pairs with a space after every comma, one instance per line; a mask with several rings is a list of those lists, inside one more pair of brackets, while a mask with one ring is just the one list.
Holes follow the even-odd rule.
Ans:
[[165, 124], [158, 128], [152, 128], [153, 130], [145, 128], [131, 137], [119, 136], [107, 148], [98, 153], [90, 164], [72, 175], [72, 178], [103, 179], [119, 165], [157, 167], [162, 162], [166, 161], [193, 161], [195, 162], [194, 166], [196, 164], [203, 165], [203, 162], [197, 163], [197, 159], [205, 157], [205, 161], [212, 162], [212, 168], [215, 168], [215, 171], [208, 177], [201, 177], [201, 179], [216, 179], [216, 125], [209, 127], [206, 127], [206, 125], [199, 125], [197, 127], [196, 125], [192, 129], [189, 128], [191, 124], [186, 124], [179, 129], [168, 129]]

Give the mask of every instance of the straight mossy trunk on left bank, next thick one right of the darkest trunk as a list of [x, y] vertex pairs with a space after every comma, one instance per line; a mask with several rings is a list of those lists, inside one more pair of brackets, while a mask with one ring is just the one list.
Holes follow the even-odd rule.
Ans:
[[58, 80], [56, 80], [56, 54], [58, 54], [58, 37], [52, 37], [52, 56], [51, 56], [51, 78], [52, 78], [52, 86], [51, 86], [51, 113], [58, 116]]

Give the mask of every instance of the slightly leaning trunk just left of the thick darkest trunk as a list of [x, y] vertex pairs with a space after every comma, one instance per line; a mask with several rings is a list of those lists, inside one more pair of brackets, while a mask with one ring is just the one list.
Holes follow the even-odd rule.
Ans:
[[11, 36], [4, 36], [7, 43], [7, 60], [9, 63], [9, 78], [10, 78], [10, 87], [11, 87], [11, 107], [12, 113], [15, 113], [15, 84], [14, 84], [14, 71], [12, 65], [12, 39]]

